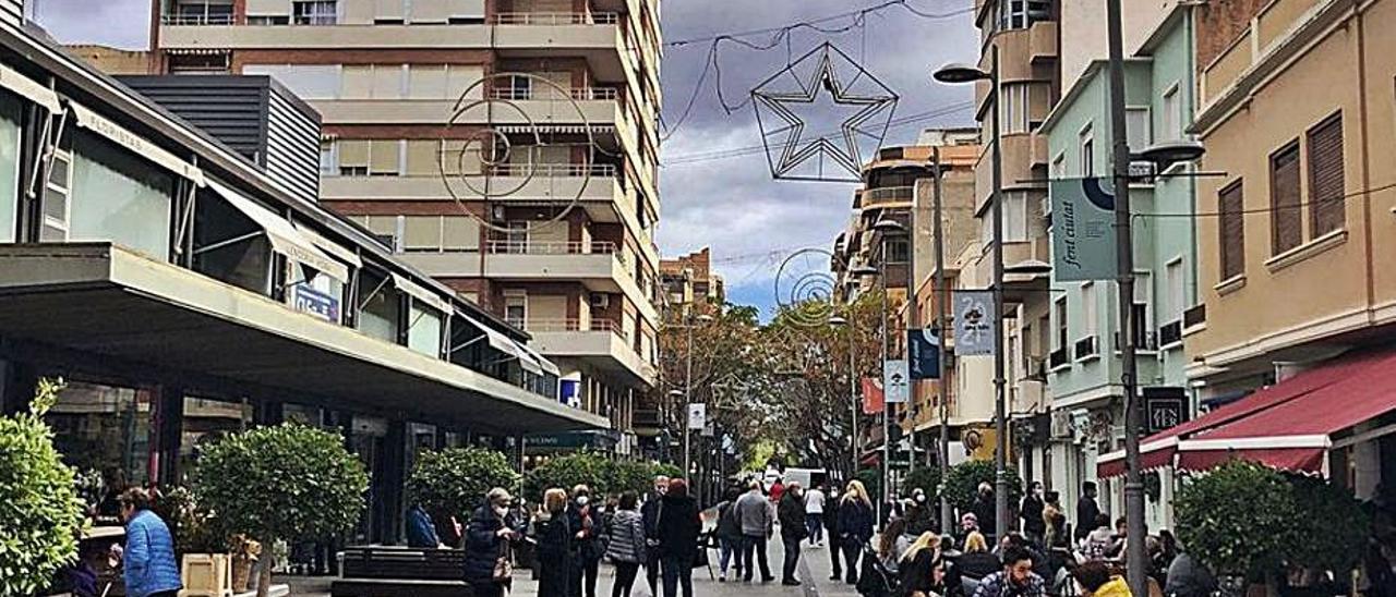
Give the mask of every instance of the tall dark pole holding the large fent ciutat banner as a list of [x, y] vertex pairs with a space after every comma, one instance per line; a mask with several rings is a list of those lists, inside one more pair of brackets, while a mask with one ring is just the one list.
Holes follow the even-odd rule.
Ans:
[[1106, 0], [1110, 43], [1110, 134], [1114, 148], [1115, 259], [1120, 280], [1120, 353], [1124, 358], [1121, 385], [1125, 393], [1125, 561], [1134, 594], [1149, 594], [1145, 576], [1143, 477], [1139, 471], [1139, 431], [1143, 409], [1139, 403], [1138, 364], [1134, 336], [1134, 234], [1129, 222], [1129, 137], [1125, 128], [1124, 40], [1120, 0]]

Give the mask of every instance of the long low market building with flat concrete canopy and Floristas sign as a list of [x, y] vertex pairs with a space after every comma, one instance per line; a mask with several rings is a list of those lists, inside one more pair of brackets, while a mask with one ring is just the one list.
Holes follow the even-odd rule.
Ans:
[[3, 20], [0, 160], [0, 411], [64, 378], [45, 418], [84, 474], [180, 484], [202, 442], [296, 420], [371, 474], [346, 540], [392, 543], [417, 451], [609, 425], [524, 332]]

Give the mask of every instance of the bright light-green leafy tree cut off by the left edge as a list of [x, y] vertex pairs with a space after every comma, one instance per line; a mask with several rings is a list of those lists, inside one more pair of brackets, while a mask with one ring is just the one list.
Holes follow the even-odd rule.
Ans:
[[28, 413], [0, 417], [0, 594], [34, 594], [78, 555], [82, 501], [43, 423], [63, 389], [39, 379]]

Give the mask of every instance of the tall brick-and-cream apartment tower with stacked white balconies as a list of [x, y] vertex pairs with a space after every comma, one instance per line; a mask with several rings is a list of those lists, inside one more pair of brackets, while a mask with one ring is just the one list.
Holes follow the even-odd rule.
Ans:
[[561, 399], [630, 451], [658, 371], [658, 1], [155, 8], [154, 71], [265, 74], [306, 99], [321, 204], [530, 332]]

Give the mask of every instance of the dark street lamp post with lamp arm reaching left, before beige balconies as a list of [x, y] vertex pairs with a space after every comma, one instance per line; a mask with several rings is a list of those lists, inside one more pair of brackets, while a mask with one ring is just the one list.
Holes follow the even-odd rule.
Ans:
[[[1118, 1], [1118, 0], [1110, 0]], [[1000, 109], [998, 109], [998, 43], [993, 45], [990, 54], [990, 70], [967, 66], [967, 64], [946, 64], [935, 71], [934, 78], [945, 84], [963, 84], [974, 81], [988, 81], [990, 84], [990, 98], [994, 102], [994, 124], [993, 124], [993, 169], [994, 169], [994, 192], [993, 192], [993, 218], [994, 218], [994, 430], [998, 435], [997, 449], [994, 451], [994, 517], [997, 529], [994, 529], [998, 537], [1004, 536], [1008, 529], [1008, 409], [1005, 405], [1004, 386], [1007, 379], [1004, 379], [1004, 151], [1002, 151], [1002, 134], [1000, 130]]]

